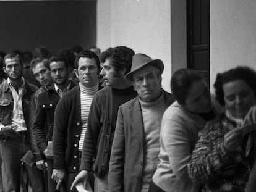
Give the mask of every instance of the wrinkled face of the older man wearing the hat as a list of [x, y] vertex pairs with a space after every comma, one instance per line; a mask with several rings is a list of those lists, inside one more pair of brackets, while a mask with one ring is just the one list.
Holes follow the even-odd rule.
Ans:
[[135, 91], [143, 102], [152, 102], [161, 95], [161, 75], [159, 70], [148, 65], [134, 72], [132, 75]]

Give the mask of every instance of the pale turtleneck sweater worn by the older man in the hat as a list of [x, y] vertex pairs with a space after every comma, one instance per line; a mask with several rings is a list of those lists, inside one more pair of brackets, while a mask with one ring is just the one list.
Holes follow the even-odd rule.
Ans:
[[160, 128], [165, 109], [164, 94], [162, 93], [160, 98], [153, 102], [143, 102], [140, 99], [139, 101], [145, 131], [142, 191], [147, 191], [159, 163]]

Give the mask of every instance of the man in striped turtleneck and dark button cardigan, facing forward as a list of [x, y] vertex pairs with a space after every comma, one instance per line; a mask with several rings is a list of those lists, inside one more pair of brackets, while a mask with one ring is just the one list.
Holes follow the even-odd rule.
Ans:
[[87, 130], [87, 119], [94, 94], [99, 90], [100, 61], [92, 51], [82, 51], [75, 59], [79, 86], [66, 93], [54, 114], [52, 179], [57, 188], [66, 179], [66, 189], [77, 175]]

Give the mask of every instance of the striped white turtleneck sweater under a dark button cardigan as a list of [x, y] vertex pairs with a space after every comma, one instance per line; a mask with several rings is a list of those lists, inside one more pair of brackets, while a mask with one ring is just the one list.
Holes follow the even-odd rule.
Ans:
[[87, 130], [87, 122], [88, 115], [90, 112], [90, 106], [92, 103], [92, 99], [94, 94], [98, 91], [99, 86], [98, 83], [92, 88], [87, 88], [79, 83], [80, 87], [80, 109], [81, 109], [81, 136], [79, 139], [79, 151], [83, 149], [83, 140], [85, 139], [85, 132]]

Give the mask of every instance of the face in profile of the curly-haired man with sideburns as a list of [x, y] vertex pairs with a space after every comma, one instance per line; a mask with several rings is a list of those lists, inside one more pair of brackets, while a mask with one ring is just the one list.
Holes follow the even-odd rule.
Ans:
[[101, 63], [101, 67], [100, 75], [102, 75], [106, 86], [116, 88], [117, 85], [119, 86], [120, 82], [124, 81], [124, 72], [115, 70], [113, 65], [109, 62], [109, 59]]

